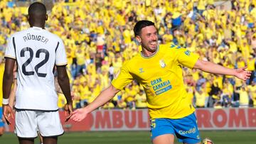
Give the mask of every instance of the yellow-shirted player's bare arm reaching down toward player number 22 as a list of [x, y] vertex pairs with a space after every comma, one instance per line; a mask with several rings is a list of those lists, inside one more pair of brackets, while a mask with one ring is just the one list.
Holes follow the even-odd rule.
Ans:
[[110, 101], [120, 90], [116, 89], [112, 84], [107, 89], [104, 89], [97, 98], [92, 101], [88, 106], [82, 109], [77, 109], [73, 112], [71, 118], [73, 121], [82, 121], [88, 113], [94, 111], [98, 107]]

